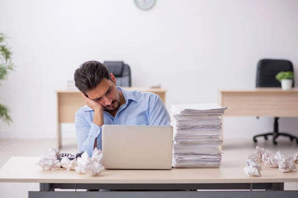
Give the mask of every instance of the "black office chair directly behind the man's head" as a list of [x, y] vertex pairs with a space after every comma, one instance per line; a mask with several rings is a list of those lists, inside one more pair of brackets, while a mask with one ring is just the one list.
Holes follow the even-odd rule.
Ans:
[[103, 64], [108, 68], [110, 73], [116, 77], [116, 86], [131, 87], [131, 70], [128, 64], [123, 61], [104, 61]]

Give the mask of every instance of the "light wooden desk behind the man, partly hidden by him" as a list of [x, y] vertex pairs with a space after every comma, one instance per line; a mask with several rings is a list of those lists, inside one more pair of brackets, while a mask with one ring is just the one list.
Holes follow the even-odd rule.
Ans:
[[[157, 94], [163, 103], [165, 103], [165, 89], [158, 88], [137, 88], [137, 87], [123, 87], [126, 90], [138, 90], [142, 92], [151, 92]], [[74, 123], [75, 112], [85, 102], [81, 93], [77, 89], [61, 89], [56, 90], [57, 95], [57, 148], [62, 148], [62, 134], [61, 123]]]

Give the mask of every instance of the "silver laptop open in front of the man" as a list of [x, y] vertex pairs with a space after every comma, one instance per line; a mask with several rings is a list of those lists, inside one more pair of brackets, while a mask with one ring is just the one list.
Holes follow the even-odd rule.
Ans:
[[172, 148], [172, 126], [102, 126], [106, 169], [171, 169]]

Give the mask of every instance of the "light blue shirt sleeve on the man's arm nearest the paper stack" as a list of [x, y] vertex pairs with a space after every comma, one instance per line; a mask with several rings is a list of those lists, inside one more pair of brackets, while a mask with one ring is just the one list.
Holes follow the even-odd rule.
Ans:
[[169, 122], [170, 116], [164, 103], [158, 95], [153, 94], [149, 100], [148, 125], [169, 125]]

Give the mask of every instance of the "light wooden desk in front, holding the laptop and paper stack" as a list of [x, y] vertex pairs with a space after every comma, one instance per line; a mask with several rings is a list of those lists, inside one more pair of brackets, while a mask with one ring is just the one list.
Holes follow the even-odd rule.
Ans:
[[[65, 169], [41, 170], [36, 165], [38, 160], [39, 157], [11, 157], [0, 168], [0, 182], [40, 183], [40, 192], [29, 192], [29, 198], [41, 198], [43, 196], [45, 196], [43, 198], [48, 198], [49, 196], [58, 196], [59, 198], [65, 198], [65, 196], [72, 196], [73, 198], [94, 196], [95, 198], [95, 195], [98, 196], [98, 194], [95, 194], [96, 192], [67, 192], [68, 194], [66, 194], [66, 192], [57, 192], [55, 189], [248, 190], [246, 193], [241, 194], [241, 197], [249, 198], [249, 196], [256, 195], [249, 193], [252, 192], [250, 190], [283, 191], [285, 182], [298, 182], [297, 169], [289, 173], [281, 173], [277, 168], [262, 167], [261, 177], [245, 175], [243, 168], [246, 165], [246, 155], [239, 155], [237, 158], [223, 156], [223, 165], [220, 168], [104, 170], [96, 177], [78, 174], [75, 171], [67, 171]], [[264, 192], [268, 193], [262, 194]], [[298, 196], [298, 191], [294, 191], [294, 194], [288, 194], [289, 191], [284, 192], [283, 196]], [[120, 192], [98, 193], [102, 198], [112, 198], [111, 196], [118, 197], [120, 195], [125, 198], [132, 198], [137, 195], [135, 194], [136, 192], [125, 192], [120, 195]], [[218, 196], [235, 198], [236, 196], [236, 194], [233, 194], [233, 191], [224, 191], [220, 195], [212, 191], [209, 191], [208, 194], [202, 192], [197, 192], [198, 194], [194, 194], [195, 192], [175, 192], [177, 195], [173, 195], [173, 192], [163, 192], [163, 194], [156, 194], [156, 192], [142, 193], [138, 194], [140, 198], [152, 196], [157, 198], [178, 198], [179, 196], [186, 198], [197, 198], [198, 196], [203, 198]], [[270, 191], [261, 191], [260, 193], [265, 198], [278, 198], [278, 196], [281, 196], [281, 194], [272, 194]]]

